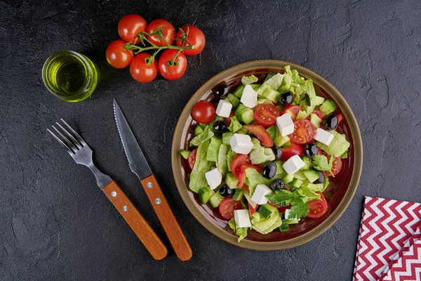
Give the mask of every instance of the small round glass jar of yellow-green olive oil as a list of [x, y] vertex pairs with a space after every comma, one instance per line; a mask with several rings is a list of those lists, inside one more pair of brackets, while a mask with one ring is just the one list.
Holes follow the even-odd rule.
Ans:
[[98, 72], [85, 55], [58, 51], [44, 63], [42, 79], [55, 96], [76, 103], [91, 96], [98, 83]]

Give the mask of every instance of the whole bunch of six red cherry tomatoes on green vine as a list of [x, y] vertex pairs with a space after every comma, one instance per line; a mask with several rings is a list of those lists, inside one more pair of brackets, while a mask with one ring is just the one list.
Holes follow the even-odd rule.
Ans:
[[[109, 44], [107, 61], [119, 69], [130, 65], [131, 76], [142, 83], [154, 80], [158, 72], [168, 80], [180, 79], [186, 72], [186, 55], [197, 55], [206, 43], [205, 35], [194, 25], [175, 32], [167, 20], [152, 20], [147, 25], [142, 16], [135, 14], [121, 18], [118, 30], [121, 40]], [[163, 53], [157, 59], [160, 51]]]

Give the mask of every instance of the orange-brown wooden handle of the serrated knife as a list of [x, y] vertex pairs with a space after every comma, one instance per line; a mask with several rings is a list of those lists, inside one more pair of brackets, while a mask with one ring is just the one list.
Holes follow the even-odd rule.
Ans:
[[173, 211], [168, 204], [166, 198], [163, 196], [162, 190], [159, 187], [158, 182], [154, 175], [148, 176], [147, 178], [140, 181], [149, 201], [154, 207], [155, 213], [161, 222], [163, 230], [165, 231], [168, 240], [174, 248], [175, 254], [181, 261], [188, 261], [192, 258], [192, 249], [190, 249], [189, 242], [182, 233], [180, 225], [175, 219]]

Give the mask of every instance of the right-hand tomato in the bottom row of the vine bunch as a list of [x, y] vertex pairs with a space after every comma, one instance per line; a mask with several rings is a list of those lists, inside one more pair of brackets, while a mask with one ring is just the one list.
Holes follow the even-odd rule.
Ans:
[[170, 65], [170, 62], [177, 55], [178, 50], [168, 49], [164, 51], [159, 58], [158, 67], [159, 73], [168, 80], [180, 79], [186, 72], [187, 58], [183, 53], [179, 53], [174, 65]]

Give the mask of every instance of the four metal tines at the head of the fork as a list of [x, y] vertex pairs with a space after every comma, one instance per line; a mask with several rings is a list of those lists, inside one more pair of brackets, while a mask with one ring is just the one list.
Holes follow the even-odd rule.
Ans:
[[[69, 131], [71, 133], [69, 133], [69, 131], [67, 131], [62, 125], [60, 125], [58, 122], [55, 122], [55, 124], [57, 124], [58, 128], [62, 131], [60, 132], [59, 129], [55, 128], [55, 126], [52, 126], [53, 129], [58, 133], [58, 135], [60, 136], [60, 138], [58, 136], [56, 136], [50, 129], [47, 129], [48, 133], [51, 133], [51, 135], [64, 147], [66, 148], [67, 152], [69, 152], [69, 155], [74, 155], [76, 153], [77, 150], [80, 150], [81, 148], [83, 148], [84, 146], [86, 146], [85, 141], [83, 141], [83, 138], [81, 138], [81, 136], [79, 136], [79, 133], [76, 133], [76, 131], [74, 131], [74, 129], [69, 126], [69, 124], [67, 124], [65, 122], [65, 120], [60, 119], [61, 122], [63, 124], [65, 124], [65, 126], [67, 126], [67, 129], [69, 129]], [[64, 134], [63, 134], [64, 133]], [[67, 138], [67, 137], [68, 138]]]

